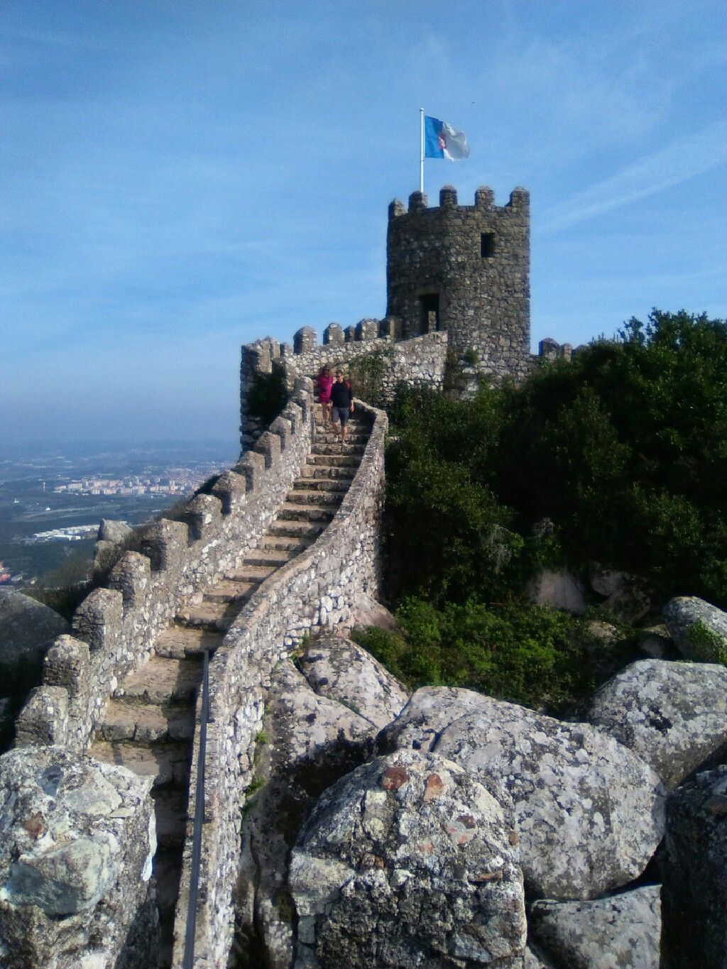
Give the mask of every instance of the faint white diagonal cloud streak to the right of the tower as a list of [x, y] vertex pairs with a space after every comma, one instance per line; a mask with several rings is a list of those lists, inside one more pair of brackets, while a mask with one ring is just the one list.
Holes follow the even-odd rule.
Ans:
[[725, 162], [727, 122], [717, 121], [690, 138], [673, 141], [622, 172], [578, 192], [566, 202], [553, 205], [545, 213], [540, 231], [558, 232], [680, 185]]

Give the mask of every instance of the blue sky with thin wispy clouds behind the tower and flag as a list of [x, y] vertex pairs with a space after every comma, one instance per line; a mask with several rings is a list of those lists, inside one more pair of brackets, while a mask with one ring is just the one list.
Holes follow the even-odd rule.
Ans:
[[239, 344], [385, 311], [427, 194], [532, 205], [532, 337], [727, 316], [722, 2], [4, 0], [0, 435], [237, 439]]

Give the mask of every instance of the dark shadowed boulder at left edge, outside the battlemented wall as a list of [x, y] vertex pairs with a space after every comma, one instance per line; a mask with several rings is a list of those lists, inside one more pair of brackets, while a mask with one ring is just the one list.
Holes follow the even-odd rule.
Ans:
[[62, 615], [37, 599], [0, 589], [0, 692], [24, 695], [40, 683], [50, 642], [70, 628]]

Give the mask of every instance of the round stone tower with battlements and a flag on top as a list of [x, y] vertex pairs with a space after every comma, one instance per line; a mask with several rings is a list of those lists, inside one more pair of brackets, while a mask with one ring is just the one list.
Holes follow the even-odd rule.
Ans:
[[414, 192], [389, 206], [387, 315], [404, 336], [446, 329], [458, 359], [495, 376], [524, 376], [530, 361], [529, 195], [495, 205], [479, 188], [458, 205], [450, 185], [439, 206]]

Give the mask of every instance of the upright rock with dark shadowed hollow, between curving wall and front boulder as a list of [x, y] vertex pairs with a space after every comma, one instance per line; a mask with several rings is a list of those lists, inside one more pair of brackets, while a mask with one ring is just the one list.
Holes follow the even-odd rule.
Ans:
[[272, 674], [263, 725], [242, 820], [237, 946], [246, 957], [262, 950], [269, 969], [289, 969], [290, 850], [316, 798], [362, 763], [375, 728], [341, 703], [316, 696], [289, 660]]

